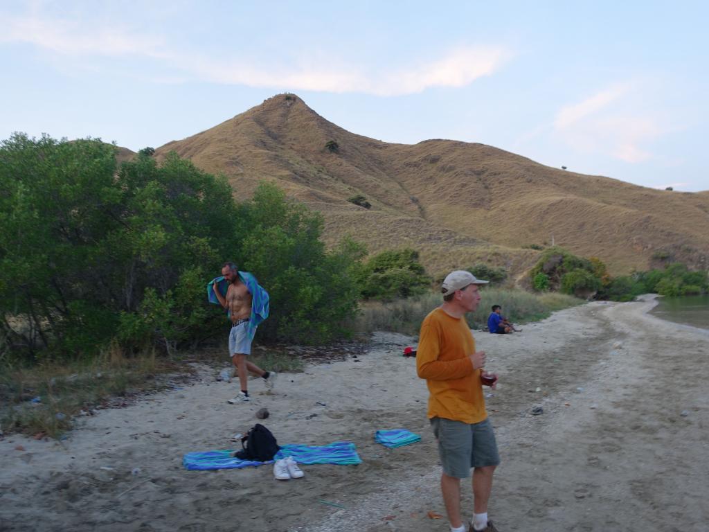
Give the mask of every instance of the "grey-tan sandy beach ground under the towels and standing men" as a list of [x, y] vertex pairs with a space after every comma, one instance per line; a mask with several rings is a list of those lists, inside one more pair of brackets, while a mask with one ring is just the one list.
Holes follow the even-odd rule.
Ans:
[[[709, 331], [650, 316], [652, 297], [557, 312], [521, 333], [475, 333], [502, 464], [489, 515], [501, 532], [709, 530]], [[357, 358], [281, 374], [274, 392], [199, 367], [191, 384], [79, 419], [61, 441], [0, 440], [0, 531], [445, 532], [428, 392], [415, 340], [378, 333]], [[226, 360], [225, 360], [226, 361]], [[258, 420], [279, 443], [350, 440], [360, 465], [188, 471], [184, 453], [229, 449]], [[541, 406], [544, 413], [532, 416]], [[386, 449], [374, 431], [420, 443]], [[464, 515], [471, 515], [469, 484]], [[328, 504], [330, 503], [330, 504]]]

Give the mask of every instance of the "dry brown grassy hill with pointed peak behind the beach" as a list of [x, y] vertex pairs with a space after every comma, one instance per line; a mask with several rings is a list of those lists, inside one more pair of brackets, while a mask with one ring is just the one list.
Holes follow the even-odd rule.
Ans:
[[[709, 265], [709, 192], [556, 170], [484, 144], [384, 143], [328, 122], [292, 94], [156, 156], [169, 150], [226, 174], [238, 198], [262, 179], [277, 183], [323, 213], [330, 242], [351, 234], [372, 252], [411, 246], [436, 273], [481, 261], [521, 272], [538, 253], [523, 247], [552, 242], [600, 257], [614, 273], [667, 257]], [[372, 208], [347, 201], [357, 194]]]

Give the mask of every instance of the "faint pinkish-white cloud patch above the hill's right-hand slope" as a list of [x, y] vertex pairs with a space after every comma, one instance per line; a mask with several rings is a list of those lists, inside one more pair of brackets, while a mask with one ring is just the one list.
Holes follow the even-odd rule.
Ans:
[[642, 95], [632, 84], [615, 84], [562, 107], [554, 118], [554, 131], [574, 150], [643, 162], [653, 157], [647, 144], [665, 133], [653, 113], [642, 109]]

